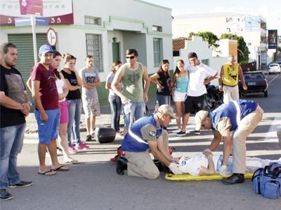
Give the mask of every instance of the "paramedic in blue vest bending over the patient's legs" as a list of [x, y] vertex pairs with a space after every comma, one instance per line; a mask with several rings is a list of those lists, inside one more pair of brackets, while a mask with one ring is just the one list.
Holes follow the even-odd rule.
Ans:
[[[233, 175], [223, 178], [224, 184], [244, 182], [246, 173], [246, 140], [261, 121], [263, 110], [254, 101], [235, 100], [218, 106], [211, 112], [199, 111], [195, 116], [196, 130], [214, 130], [211, 146], [204, 153], [214, 151], [223, 141], [223, 162], [220, 174], [224, 175], [231, 150], [233, 155]], [[233, 138], [231, 133], [234, 132]]]

